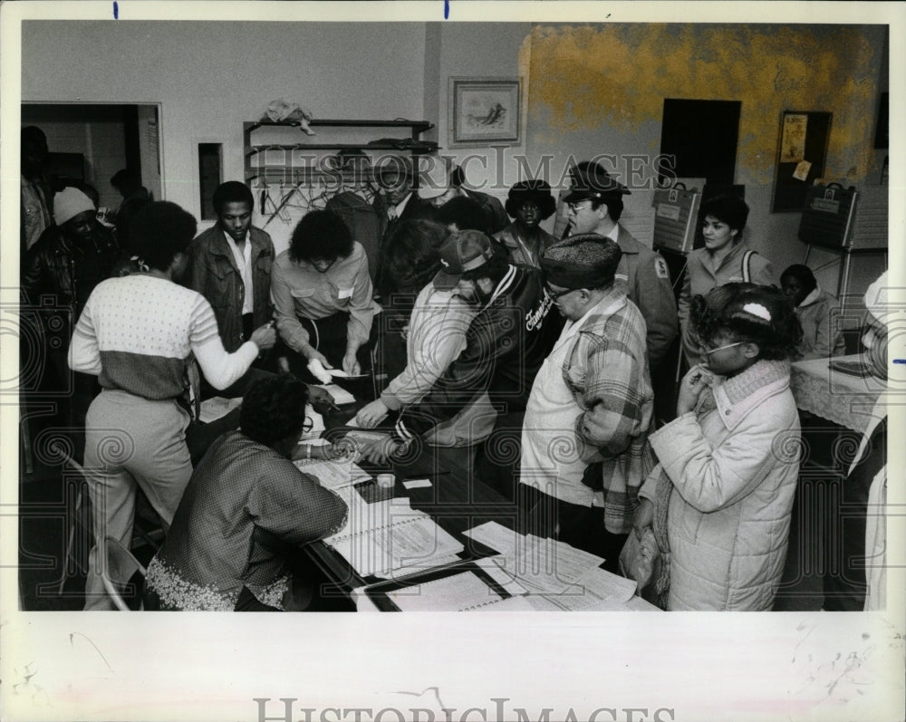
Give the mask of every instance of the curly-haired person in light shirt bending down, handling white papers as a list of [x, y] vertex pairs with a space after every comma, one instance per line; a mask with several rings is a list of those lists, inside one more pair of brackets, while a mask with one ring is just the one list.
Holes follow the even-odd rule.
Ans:
[[370, 368], [371, 325], [381, 306], [371, 298], [368, 258], [342, 218], [313, 210], [295, 226], [271, 270], [277, 331], [289, 370], [311, 380], [309, 361], [357, 376]]

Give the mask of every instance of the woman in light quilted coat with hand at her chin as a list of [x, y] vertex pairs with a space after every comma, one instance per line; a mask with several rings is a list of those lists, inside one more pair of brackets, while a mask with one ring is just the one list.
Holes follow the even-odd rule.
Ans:
[[669, 558], [669, 610], [769, 610], [799, 472], [790, 359], [802, 330], [767, 287], [717, 310], [696, 297], [690, 318], [708, 361], [681, 381], [678, 418], [649, 437], [660, 464], [634, 526], [641, 537], [653, 520]]

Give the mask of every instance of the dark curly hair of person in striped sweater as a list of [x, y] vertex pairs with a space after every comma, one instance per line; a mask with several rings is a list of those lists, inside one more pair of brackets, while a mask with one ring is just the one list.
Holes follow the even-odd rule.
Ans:
[[186, 252], [197, 230], [191, 213], [169, 200], [157, 200], [131, 219], [129, 243], [151, 268], [166, 271], [178, 253]]

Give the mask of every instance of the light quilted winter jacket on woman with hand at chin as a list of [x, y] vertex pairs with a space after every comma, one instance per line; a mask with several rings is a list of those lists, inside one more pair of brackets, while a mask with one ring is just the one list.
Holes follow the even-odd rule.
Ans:
[[799, 471], [789, 376], [733, 404], [721, 385], [714, 400], [700, 419], [683, 414], [650, 437], [674, 485], [669, 609], [770, 610]]

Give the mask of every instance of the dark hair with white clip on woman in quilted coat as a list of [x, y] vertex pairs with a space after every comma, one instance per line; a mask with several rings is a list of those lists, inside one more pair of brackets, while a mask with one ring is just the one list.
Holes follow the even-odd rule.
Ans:
[[[732, 286], [729, 287], [728, 286]], [[802, 326], [786, 295], [774, 286], [727, 284], [707, 296], [693, 296], [690, 320], [708, 343], [725, 335], [758, 346], [758, 358], [793, 359], [802, 342]]]

